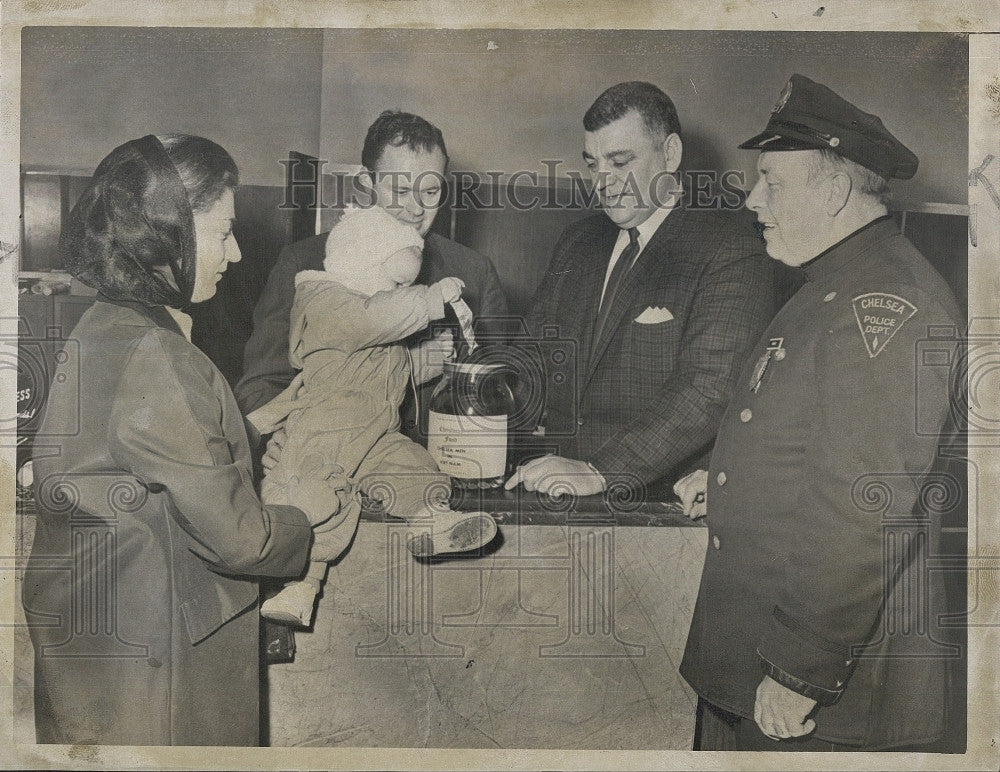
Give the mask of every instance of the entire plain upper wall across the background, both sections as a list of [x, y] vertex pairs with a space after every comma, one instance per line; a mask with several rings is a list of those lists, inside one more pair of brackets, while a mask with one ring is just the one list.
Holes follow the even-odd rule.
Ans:
[[[492, 44], [492, 45], [491, 45]], [[692, 168], [753, 177], [757, 133], [800, 72], [877, 112], [920, 157], [901, 201], [965, 203], [968, 36], [704, 30], [25, 27], [21, 161], [91, 170], [149, 132], [208, 136], [244, 179], [288, 150], [358, 163], [386, 108], [444, 131], [453, 169], [583, 170], [581, 119], [622, 80], [677, 103]]]

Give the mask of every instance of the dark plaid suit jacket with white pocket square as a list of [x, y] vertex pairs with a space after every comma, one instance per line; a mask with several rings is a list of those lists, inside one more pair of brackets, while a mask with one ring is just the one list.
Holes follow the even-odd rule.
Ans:
[[533, 336], [566, 341], [576, 362], [575, 377], [548, 375], [545, 441], [609, 482], [673, 482], [711, 449], [743, 359], [774, 315], [773, 261], [748, 212], [678, 207], [639, 254], [591, 353], [618, 234], [603, 213], [567, 228], [526, 320]]

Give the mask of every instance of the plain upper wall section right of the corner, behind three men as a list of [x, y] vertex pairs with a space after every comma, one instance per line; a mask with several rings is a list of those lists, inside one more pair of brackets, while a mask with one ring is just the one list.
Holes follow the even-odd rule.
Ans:
[[[492, 45], [491, 45], [492, 44]], [[386, 108], [444, 132], [452, 168], [584, 171], [583, 114], [605, 88], [648, 80], [671, 95], [685, 165], [742, 170], [788, 76], [833, 88], [920, 158], [899, 200], [967, 201], [968, 36], [705, 30], [354, 30], [323, 32], [321, 157], [358, 163]]]

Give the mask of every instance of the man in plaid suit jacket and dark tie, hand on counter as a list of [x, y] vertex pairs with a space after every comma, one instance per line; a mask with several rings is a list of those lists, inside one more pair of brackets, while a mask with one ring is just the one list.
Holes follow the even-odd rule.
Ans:
[[[775, 311], [752, 219], [682, 202], [680, 125], [666, 94], [612, 86], [584, 128], [604, 211], [563, 233], [526, 319], [532, 336], [566, 342], [575, 373], [546, 379], [541, 423], [558, 453], [522, 465], [508, 489], [590, 495], [616, 478], [649, 485], [690, 471]], [[631, 266], [617, 279], [623, 257]]]

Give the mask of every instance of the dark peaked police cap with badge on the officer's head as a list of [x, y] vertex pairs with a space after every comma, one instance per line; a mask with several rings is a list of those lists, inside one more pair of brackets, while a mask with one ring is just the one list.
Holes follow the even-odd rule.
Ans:
[[908, 180], [917, 172], [917, 157], [886, 130], [877, 115], [859, 110], [804, 75], [792, 75], [767, 128], [740, 147], [767, 151], [825, 148], [887, 179]]

